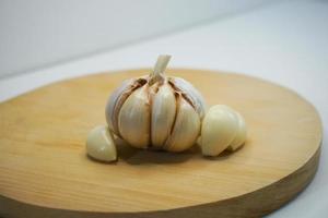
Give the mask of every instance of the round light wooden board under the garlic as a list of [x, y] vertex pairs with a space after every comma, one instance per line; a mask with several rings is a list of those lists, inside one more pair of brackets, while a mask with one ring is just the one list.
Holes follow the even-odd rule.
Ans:
[[85, 155], [87, 132], [105, 123], [108, 95], [149, 69], [63, 81], [0, 105], [0, 216], [258, 217], [313, 179], [321, 123], [295, 93], [262, 80], [204, 70], [168, 70], [208, 105], [238, 110], [248, 140], [235, 153], [203, 158], [119, 145], [119, 160]]

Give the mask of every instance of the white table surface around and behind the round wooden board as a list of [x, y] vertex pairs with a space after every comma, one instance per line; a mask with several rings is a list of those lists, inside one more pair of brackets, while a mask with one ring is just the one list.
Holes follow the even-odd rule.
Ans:
[[[0, 101], [45, 84], [99, 71], [169, 66], [241, 72], [297, 92], [328, 123], [328, 1], [283, 1], [207, 25], [0, 80]], [[294, 201], [268, 217], [328, 216], [328, 145], [324, 130], [318, 172]]]

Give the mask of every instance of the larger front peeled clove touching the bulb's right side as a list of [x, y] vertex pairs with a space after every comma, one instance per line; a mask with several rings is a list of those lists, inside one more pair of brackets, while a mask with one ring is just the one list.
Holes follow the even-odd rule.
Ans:
[[204, 156], [218, 156], [237, 133], [238, 118], [225, 106], [213, 106], [206, 113], [201, 126], [201, 150]]

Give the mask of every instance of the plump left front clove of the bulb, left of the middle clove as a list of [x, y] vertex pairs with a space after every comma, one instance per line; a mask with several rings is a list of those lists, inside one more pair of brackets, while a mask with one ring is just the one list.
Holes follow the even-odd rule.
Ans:
[[136, 89], [124, 102], [118, 114], [119, 134], [131, 146], [147, 148], [150, 141], [150, 102], [148, 85]]

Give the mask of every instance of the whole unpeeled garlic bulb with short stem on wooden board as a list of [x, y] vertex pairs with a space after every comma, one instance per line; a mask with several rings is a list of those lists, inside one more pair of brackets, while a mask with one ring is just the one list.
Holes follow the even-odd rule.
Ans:
[[137, 148], [183, 152], [200, 133], [204, 101], [187, 81], [164, 75], [160, 56], [150, 75], [125, 81], [106, 106], [108, 128]]

